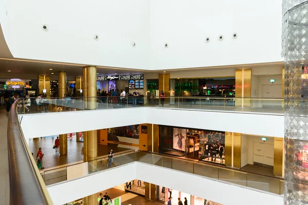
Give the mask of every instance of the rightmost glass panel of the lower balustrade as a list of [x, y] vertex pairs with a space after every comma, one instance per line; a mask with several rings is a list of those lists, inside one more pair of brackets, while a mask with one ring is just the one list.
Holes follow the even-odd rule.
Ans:
[[257, 174], [247, 175], [247, 186], [266, 192], [280, 194], [280, 179], [261, 176]]

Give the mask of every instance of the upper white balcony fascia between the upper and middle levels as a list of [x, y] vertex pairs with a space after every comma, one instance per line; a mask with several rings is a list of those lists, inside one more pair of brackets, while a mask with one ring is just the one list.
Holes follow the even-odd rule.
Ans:
[[[283, 115], [127, 108], [25, 114], [20, 117], [22, 117], [21, 126], [26, 139], [143, 123], [284, 137]], [[221, 123], [222, 121], [234, 123]], [[50, 123], [55, 123], [56, 129], [50, 126]]]

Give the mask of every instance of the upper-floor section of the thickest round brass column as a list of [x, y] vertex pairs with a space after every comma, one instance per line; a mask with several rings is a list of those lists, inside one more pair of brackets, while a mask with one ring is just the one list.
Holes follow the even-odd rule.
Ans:
[[97, 68], [95, 66], [87, 66], [83, 69], [83, 96], [85, 99], [85, 109], [95, 110], [97, 108]]

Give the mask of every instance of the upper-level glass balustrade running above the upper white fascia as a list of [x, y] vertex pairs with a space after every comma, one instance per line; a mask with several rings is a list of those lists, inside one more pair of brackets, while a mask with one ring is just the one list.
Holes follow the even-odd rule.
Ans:
[[282, 98], [230, 97], [67, 97], [21, 98], [18, 113], [65, 112], [117, 108], [153, 107], [229, 112], [257, 112], [283, 114]]

